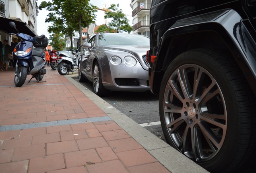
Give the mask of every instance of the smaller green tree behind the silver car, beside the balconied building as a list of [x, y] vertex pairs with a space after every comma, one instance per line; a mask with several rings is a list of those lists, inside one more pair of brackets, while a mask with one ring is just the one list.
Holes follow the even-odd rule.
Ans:
[[104, 18], [112, 18], [109, 22], [109, 27], [115, 29], [117, 32], [132, 32], [132, 26], [128, 24], [129, 20], [123, 13], [122, 9], [118, 9], [119, 4], [111, 4], [109, 11], [105, 13]]

